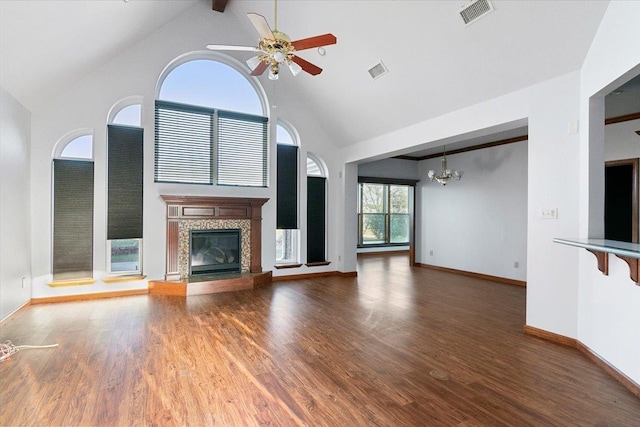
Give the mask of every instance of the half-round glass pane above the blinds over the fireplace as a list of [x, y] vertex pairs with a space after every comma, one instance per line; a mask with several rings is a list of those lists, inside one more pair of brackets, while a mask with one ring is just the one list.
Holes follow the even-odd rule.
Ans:
[[209, 59], [174, 68], [162, 82], [159, 99], [189, 105], [262, 115], [251, 83], [233, 67]]

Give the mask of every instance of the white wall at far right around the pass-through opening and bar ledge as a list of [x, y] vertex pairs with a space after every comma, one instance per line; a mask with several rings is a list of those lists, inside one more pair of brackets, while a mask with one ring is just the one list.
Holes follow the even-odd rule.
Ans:
[[[612, 1], [581, 70], [581, 237], [600, 237], [589, 235], [589, 230], [603, 223], [602, 210], [597, 206], [602, 204], [604, 194], [603, 140], [605, 132], [610, 133], [609, 126], [603, 129], [601, 117], [590, 113], [602, 110], [602, 98], [607, 93], [640, 74], [638, 22], [640, 2]], [[617, 130], [611, 128], [611, 132]], [[629, 279], [626, 263], [617, 257], [609, 256], [609, 275], [604, 276], [597, 270], [593, 255], [578, 251], [577, 338], [640, 384], [640, 286]]]

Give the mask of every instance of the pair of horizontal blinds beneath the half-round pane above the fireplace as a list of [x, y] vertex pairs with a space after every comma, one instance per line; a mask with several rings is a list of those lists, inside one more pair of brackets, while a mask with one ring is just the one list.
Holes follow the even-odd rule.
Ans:
[[268, 119], [156, 101], [155, 181], [266, 187]]

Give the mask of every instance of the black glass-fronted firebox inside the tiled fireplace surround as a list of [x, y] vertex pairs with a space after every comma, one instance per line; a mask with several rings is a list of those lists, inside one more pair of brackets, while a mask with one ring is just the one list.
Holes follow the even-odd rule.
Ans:
[[241, 271], [240, 229], [190, 230], [189, 276]]

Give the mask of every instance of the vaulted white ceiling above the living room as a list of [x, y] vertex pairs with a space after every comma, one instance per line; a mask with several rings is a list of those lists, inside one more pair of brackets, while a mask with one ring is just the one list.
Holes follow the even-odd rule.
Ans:
[[[283, 72], [278, 90], [297, 91], [346, 146], [578, 70], [608, 4], [493, 0], [493, 13], [465, 27], [465, 3], [280, 0], [280, 31], [294, 40], [331, 32], [338, 43], [325, 56], [301, 52], [323, 73]], [[274, 26], [273, 6], [229, 0], [224, 13], [257, 42], [246, 13]], [[218, 13], [210, 0], [0, 1], [0, 85], [33, 108], [191, 7]], [[379, 61], [389, 74], [373, 80], [367, 70]]]

